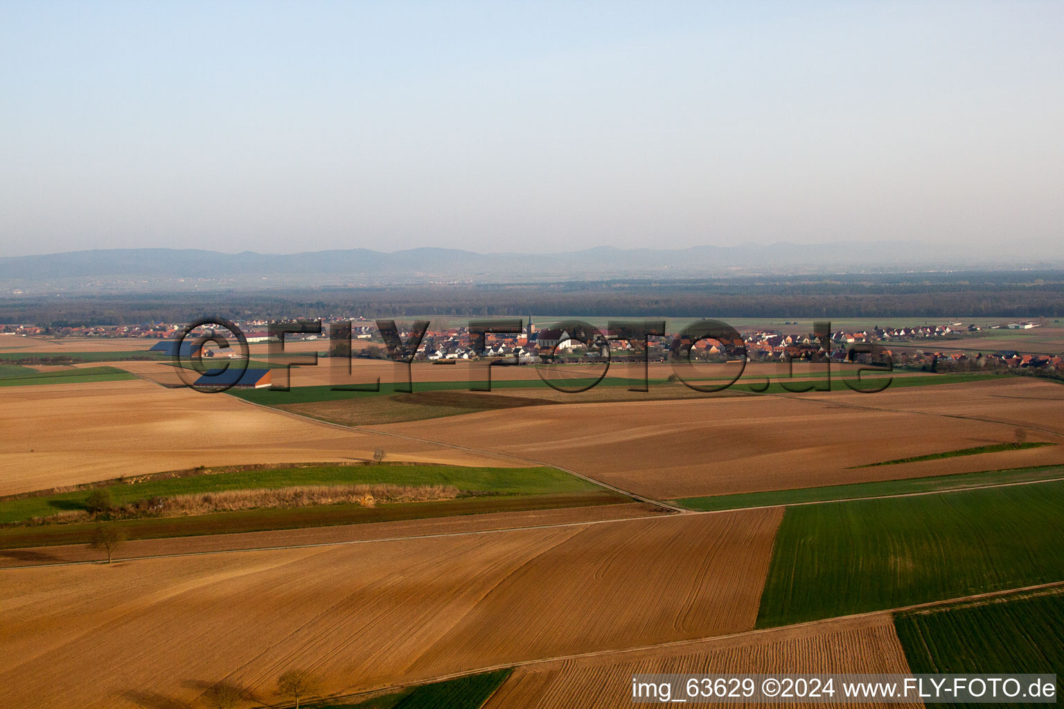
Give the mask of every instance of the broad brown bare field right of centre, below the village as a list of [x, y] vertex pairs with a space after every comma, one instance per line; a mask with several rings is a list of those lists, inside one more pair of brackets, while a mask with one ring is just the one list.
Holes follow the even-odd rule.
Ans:
[[[877, 408], [897, 396], [894, 401], [910, 402], [910, 407], [942, 401], [944, 409], [957, 405], [952, 410], [965, 411], [997, 401], [991, 394], [1007, 390], [1005, 382], [967, 383], [900, 393], [536, 406], [377, 428], [563, 466], [659, 500], [1060, 463], [1062, 448], [1054, 445], [855, 468], [1013, 441], [1016, 426], [1010, 417], [998, 423]], [[960, 407], [961, 401], [967, 408]], [[1013, 405], [1018, 411], [1026, 403]], [[1064, 421], [1059, 415], [1057, 420]], [[1028, 440], [1059, 439], [1030, 431]]]

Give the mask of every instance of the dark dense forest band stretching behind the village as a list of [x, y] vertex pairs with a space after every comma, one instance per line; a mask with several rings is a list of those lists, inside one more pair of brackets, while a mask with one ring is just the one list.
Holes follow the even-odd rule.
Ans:
[[0, 299], [0, 322], [44, 326], [248, 318], [582, 315], [706, 318], [1061, 317], [1064, 271], [852, 274], [820, 278], [586, 281], [219, 290]]

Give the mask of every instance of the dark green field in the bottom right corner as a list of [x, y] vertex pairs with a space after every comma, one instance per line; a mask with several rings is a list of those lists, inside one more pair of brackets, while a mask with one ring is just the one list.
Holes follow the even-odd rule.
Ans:
[[1064, 679], [1061, 591], [899, 613], [895, 627], [914, 673], [1055, 674], [1060, 695]]

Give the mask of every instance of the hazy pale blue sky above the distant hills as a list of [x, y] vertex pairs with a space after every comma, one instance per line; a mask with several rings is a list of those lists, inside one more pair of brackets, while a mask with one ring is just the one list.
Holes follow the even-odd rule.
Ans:
[[0, 255], [1060, 254], [1062, 36], [1003, 0], [0, 0]]

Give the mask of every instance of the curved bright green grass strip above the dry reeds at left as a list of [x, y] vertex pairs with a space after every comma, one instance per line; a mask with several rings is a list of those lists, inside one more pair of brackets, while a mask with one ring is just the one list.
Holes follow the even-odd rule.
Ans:
[[[206, 471], [204, 471], [206, 473]], [[452, 485], [465, 492], [544, 494], [582, 492], [597, 486], [553, 468], [464, 468], [460, 466], [306, 466], [118, 483], [109, 488], [115, 505], [179, 494], [288, 488], [307, 485]], [[0, 502], [0, 524], [85, 509], [88, 492], [61, 492]]]

